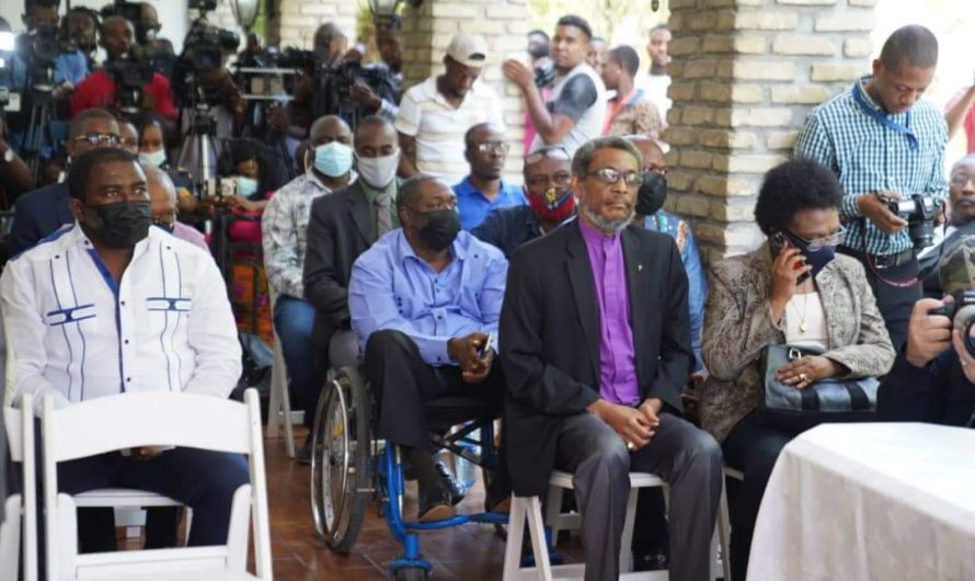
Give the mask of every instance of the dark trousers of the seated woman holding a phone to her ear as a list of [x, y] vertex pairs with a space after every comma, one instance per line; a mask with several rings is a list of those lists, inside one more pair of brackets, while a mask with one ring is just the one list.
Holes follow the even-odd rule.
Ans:
[[721, 445], [725, 464], [744, 475], [744, 480], [736, 482], [735, 494], [730, 495], [732, 579], [745, 579], [765, 487], [779, 453], [795, 435], [760, 425], [752, 412], [735, 424]]

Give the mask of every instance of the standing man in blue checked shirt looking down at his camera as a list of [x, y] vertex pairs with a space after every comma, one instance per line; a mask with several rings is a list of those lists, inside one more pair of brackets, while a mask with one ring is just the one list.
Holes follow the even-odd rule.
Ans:
[[[793, 151], [839, 178], [839, 213], [849, 232], [839, 252], [867, 267], [894, 349], [904, 344], [911, 308], [921, 298], [915, 253], [930, 240], [917, 239], [915, 229], [932, 225], [918, 210], [930, 207], [933, 214], [948, 194], [942, 171], [948, 128], [941, 111], [920, 100], [937, 64], [931, 31], [898, 29], [873, 61], [872, 75], [810, 114]], [[914, 201], [914, 210], [903, 212], [897, 201]]]

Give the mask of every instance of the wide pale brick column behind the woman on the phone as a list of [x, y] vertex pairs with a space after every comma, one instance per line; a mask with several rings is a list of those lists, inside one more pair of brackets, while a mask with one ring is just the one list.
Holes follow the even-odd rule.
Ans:
[[875, 0], [670, 0], [667, 140], [676, 194], [706, 260], [754, 249], [762, 174], [808, 111], [870, 71]]

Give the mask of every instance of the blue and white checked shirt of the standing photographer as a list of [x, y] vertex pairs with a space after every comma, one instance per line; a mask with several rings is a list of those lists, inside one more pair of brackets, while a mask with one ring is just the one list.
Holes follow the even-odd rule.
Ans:
[[[941, 112], [927, 101], [918, 101], [905, 113], [886, 114], [865, 90], [870, 79], [870, 76], [862, 77], [849, 91], [814, 109], [792, 155], [822, 163], [839, 179], [845, 192], [839, 213], [848, 223], [845, 246], [859, 251], [865, 248], [869, 254], [887, 255], [911, 248], [907, 228], [887, 235], [872, 220], [861, 220], [857, 197], [886, 191], [897, 192], [902, 198], [922, 194], [943, 200], [948, 195], [944, 179], [948, 126]], [[917, 147], [913, 147], [905, 133], [868, 114], [857, 102], [858, 91], [865, 106], [893, 124], [907, 127], [916, 136]]]

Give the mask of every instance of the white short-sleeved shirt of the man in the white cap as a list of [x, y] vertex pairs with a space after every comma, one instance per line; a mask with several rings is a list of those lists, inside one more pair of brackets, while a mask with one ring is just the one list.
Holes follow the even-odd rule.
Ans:
[[431, 77], [403, 95], [397, 115], [397, 130], [416, 139], [416, 169], [440, 174], [457, 183], [468, 174], [463, 158], [463, 134], [479, 123], [504, 127], [501, 102], [494, 89], [478, 81], [460, 106], [454, 107], [437, 91], [437, 77]]

